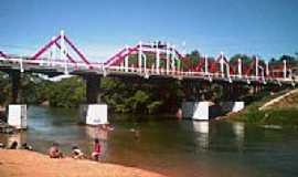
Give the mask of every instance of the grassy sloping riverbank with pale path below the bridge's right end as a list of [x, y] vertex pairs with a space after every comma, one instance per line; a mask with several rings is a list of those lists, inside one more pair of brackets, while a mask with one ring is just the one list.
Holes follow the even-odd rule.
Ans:
[[[290, 94], [289, 94], [290, 93]], [[268, 104], [269, 103], [269, 104]], [[264, 108], [264, 105], [266, 108]], [[263, 108], [260, 108], [263, 107]], [[260, 125], [298, 126], [298, 92], [283, 91], [264, 96], [244, 111], [226, 116], [231, 121]]]

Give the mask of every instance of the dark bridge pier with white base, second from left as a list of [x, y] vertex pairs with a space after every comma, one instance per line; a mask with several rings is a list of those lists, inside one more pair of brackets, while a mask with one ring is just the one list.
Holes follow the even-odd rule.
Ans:
[[87, 125], [108, 124], [107, 105], [99, 103], [99, 90], [102, 77], [96, 74], [84, 76], [86, 82], [86, 104], [79, 106], [81, 122]]

